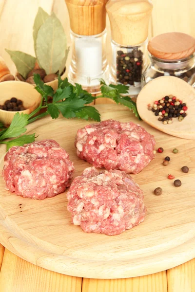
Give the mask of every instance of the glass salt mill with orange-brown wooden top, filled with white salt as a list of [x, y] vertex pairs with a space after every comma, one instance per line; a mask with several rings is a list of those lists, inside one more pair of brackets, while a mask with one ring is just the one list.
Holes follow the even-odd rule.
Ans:
[[100, 91], [100, 81], [108, 81], [105, 52], [107, 0], [65, 0], [70, 16], [72, 59], [70, 82], [91, 93]]

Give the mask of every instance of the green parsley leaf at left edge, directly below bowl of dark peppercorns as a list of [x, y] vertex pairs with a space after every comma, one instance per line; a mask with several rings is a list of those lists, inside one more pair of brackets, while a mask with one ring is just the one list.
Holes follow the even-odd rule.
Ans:
[[2, 134], [0, 137], [0, 140], [4, 140], [7, 138], [14, 138], [21, 134], [23, 134], [26, 131], [25, 126], [28, 124], [28, 117], [29, 115], [27, 113], [23, 114], [23, 112], [20, 114], [17, 112], [14, 115], [14, 118], [7, 130]]

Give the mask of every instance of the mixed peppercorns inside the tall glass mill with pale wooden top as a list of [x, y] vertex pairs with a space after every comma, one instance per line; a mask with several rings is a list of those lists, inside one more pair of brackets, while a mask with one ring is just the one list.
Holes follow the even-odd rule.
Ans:
[[141, 82], [143, 53], [134, 49], [129, 53], [117, 51], [117, 82], [135, 85]]

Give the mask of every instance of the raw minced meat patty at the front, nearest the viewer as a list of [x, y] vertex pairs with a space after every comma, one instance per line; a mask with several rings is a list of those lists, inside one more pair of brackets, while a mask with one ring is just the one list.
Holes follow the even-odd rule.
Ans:
[[123, 171], [86, 168], [67, 193], [72, 221], [84, 232], [118, 235], [144, 220], [143, 191]]

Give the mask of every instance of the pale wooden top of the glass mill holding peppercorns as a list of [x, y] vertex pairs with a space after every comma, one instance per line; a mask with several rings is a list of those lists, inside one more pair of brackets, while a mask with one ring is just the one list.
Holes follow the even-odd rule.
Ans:
[[148, 37], [151, 0], [110, 0], [106, 10], [112, 39], [123, 46], [138, 45]]

